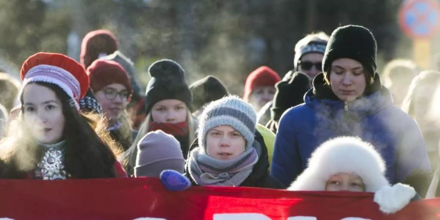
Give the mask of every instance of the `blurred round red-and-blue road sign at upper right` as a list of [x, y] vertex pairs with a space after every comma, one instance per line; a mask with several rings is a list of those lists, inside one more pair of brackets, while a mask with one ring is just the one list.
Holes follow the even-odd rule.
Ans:
[[431, 38], [440, 30], [440, 4], [437, 0], [405, 0], [398, 18], [406, 35]]

